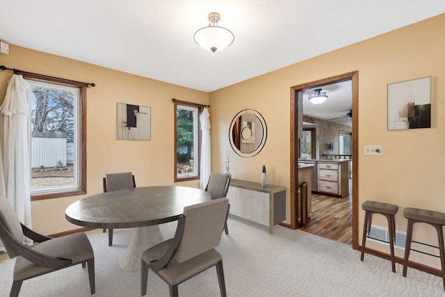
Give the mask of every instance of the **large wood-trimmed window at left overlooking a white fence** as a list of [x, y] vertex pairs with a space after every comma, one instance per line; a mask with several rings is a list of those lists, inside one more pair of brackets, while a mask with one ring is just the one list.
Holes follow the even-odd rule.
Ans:
[[86, 86], [24, 78], [30, 83], [31, 200], [85, 194]]

